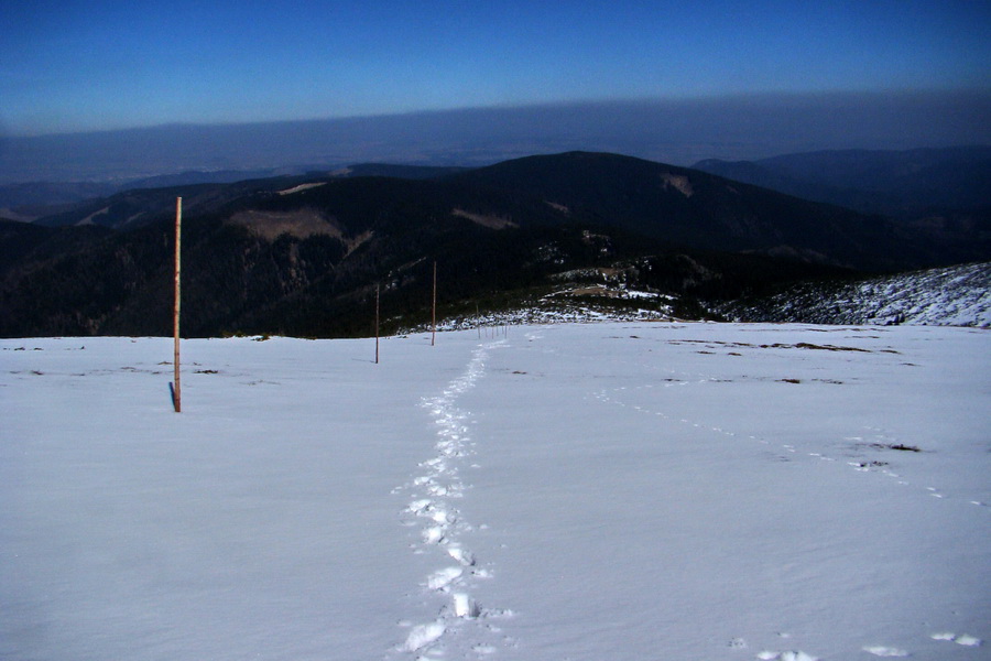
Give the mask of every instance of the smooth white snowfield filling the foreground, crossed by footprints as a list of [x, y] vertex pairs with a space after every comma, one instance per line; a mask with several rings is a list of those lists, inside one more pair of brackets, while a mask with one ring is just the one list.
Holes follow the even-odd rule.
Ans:
[[0, 340], [0, 658], [989, 658], [987, 330], [183, 356]]

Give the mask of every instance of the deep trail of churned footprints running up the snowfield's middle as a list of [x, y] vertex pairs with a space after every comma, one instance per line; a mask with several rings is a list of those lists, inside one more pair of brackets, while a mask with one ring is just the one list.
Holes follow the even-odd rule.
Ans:
[[436, 557], [436, 568], [424, 577], [421, 588], [427, 604], [439, 607], [429, 621], [411, 625], [405, 641], [395, 651], [415, 654], [417, 659], [439, 659], [448, 648], [457, 647], [478, 658], [496, 652], [512, 641], [501, 635], [492, 619], [512, 615], [507, 610], [482, 608], [472, 596], [479, 581], [491, 574], [461, 542], [461, 533], [473, 530], [455, 507], [464, 498], [466, 485], [460, 470], [472, 453], [473, 441], [467, 424], [470, 414], [458, 409], [458, 398], [475, 387], [484, 375], [489, 350], [503, 342], [480, 346], [472, 354], [464, 375], [451, 381], [437, 397], [425, 399], [437, 430], [435, 454], [420, 464], [420, 474], [401, 490], [410, 494], [403, 520], [420, 525], [420, 540], [414, 553]]

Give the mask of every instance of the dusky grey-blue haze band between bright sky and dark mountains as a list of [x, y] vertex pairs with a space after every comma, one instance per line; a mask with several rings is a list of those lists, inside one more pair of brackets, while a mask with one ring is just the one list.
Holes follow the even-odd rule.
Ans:
[[356, 162], [482, 165], [610, 151], [676, 165], [826, 149], [991, 144], [991, 93], [836, 93], [471, 108], [251, 124], [0, 136], [0, 184]]

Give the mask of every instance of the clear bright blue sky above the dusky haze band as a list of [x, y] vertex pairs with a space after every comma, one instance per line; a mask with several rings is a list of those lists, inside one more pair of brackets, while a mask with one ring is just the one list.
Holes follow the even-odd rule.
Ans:
[[0, 132], [991, 89], [991, 3], [0, 3]]

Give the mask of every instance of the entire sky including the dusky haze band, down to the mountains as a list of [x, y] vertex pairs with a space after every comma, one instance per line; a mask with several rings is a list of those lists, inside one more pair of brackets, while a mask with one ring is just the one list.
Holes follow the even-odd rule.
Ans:
[[991, 144], [965, 0], [0, 3], [0, 183]]

